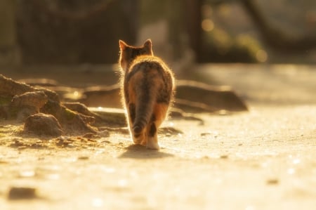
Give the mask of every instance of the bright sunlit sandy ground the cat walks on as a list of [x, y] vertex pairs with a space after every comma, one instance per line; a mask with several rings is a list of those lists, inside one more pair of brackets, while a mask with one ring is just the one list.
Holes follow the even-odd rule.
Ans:
[[[160, 135], [159, 151], [119, 133], [12, 147], [1, 122], [0, 209], [315, 209], [316, 67], [199, 68], [195, 77], [232, 86], [250, 111], [165, 122], [183, 134]], [[34, 197], [8, 199], [18, 187]]]

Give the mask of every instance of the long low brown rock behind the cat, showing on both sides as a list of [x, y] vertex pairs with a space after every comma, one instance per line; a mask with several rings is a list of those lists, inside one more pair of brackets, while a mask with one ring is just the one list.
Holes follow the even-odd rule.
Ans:
[[[88, 107], [122, 108], [119, 85], [86, 88], [79, 101]], [[228, 86], [178, 80], [174, 106], [185, 112], [247, 111], [246, 104]]]

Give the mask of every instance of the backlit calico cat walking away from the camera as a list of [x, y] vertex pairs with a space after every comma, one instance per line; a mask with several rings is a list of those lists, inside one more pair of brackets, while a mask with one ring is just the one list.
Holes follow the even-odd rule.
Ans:
[[140, 47], [119, 40], [119, 48], [121, 95], [133, 142], [159, 150], [157, 130], [173, 101], [173, 72], [154, 56], [150, 39]]

